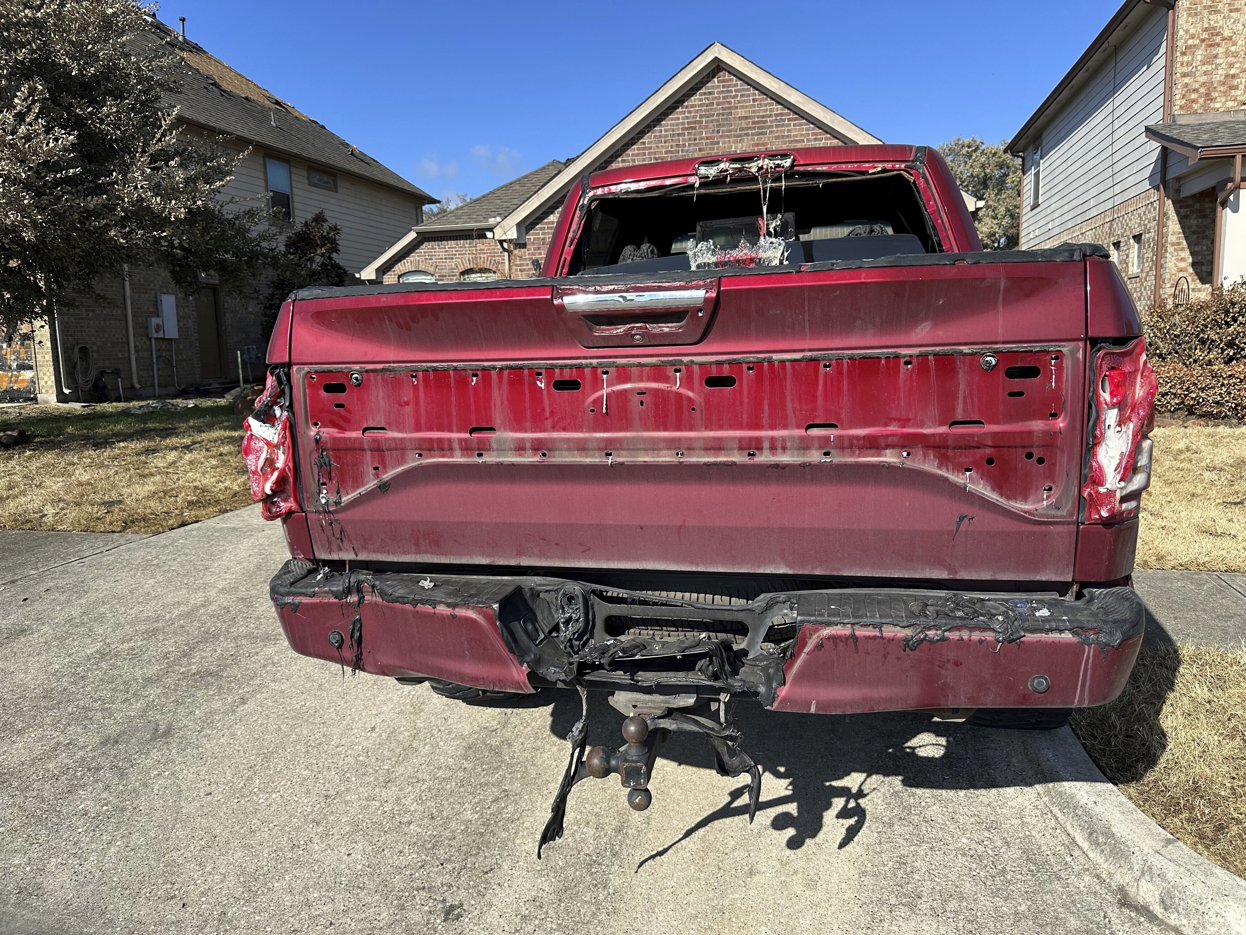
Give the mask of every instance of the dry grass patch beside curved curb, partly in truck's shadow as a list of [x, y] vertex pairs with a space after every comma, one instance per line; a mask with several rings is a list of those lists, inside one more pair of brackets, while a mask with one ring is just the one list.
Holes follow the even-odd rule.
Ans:
[[1120, 698], [1072, 724], [1130, 802], [1246, 876], [1246, 651], [1144, 650]]

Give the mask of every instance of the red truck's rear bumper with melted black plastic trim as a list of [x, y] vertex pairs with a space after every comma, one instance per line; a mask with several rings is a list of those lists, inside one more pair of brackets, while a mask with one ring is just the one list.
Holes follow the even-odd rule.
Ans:
[[1128, 587], [1077, 601], [844, 588], [724, 606], [563, 578], [344, 573], [298, 560], [272, 597], [297, 652], [375, 674], [510, 692], [572, 679], [725, 692], [815, 713], [1103, 704], [1124, 688], [1144, 621]]

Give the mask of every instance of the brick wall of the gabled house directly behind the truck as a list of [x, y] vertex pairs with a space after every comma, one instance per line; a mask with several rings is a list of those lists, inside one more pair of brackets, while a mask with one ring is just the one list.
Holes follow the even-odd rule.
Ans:
[[[731, 72], [714, 69], [621, 143], [593, 171], [688, 156], [840, 142]], [[530, 222], [527, 243], [515, 244], [512, 278], [536, 276], [532, 261], [545, 259], [561, 209], [559, 198]], [[384, 280], [395, 283], [409, 269], [421, 269], [435, 274], [437, 282], [454, 282], [464, 269], [470, 268], [493, 269], [498, 277], [506, 276], [506, 256], [501, 246], [486, 238], [483, 232], [421, 237], [385, 271]]]

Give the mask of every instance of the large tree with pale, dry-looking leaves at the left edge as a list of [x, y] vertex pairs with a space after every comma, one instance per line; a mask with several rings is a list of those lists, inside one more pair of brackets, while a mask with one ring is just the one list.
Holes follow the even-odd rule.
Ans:
[[219, 196], [239, 155], [163, 103], [173, 59], [136, 41], [135, 0], [0, 2], [0, 333], [74, 304], [102, 274], [161, 264], [186, 293], [242, 292], [267, 219]]

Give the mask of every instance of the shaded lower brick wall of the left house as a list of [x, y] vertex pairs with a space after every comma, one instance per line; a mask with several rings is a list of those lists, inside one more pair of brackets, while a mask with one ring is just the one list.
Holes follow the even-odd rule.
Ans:
[[[177, 365], [177, 385], [189, 388], [208, 384], [237, 384], [238, 352], [247, 345], [255, 347], [258, 360], [250, 363], [250, 375], [262, 380], [264, 374], [265, 347], [260, 340], [260, 315], [257, 295], [247, 299], [218, 289], [221, 310], [218, 317], [218, 338], [221, 355], [221, 375], [204, 376], [199, 355], [199, 323], [196, 300], [178, 292], [168, 274], [158, 268], [147, 267], [130, 271], [130, 302], [135, 327], [136, 372], [130, 368], [130, 350], [126, 337], [126, 305], [122, 278], [106, 277], [95, 284], [95, 295], [81, 297], [78, 303], [62, 308], [59, 314], [61, 352], [65, 358], [65, 375], [59, 393], [61, 401], [93, 401], [95, 393], [90, 386], [80, 390], [77, 384], [77, 362], [86, 363], [86, 355], [80, 354], [78, 345], [90, 350], [90, 370], [83, 368], [87, 383], [101, 370], [121, 368], [122, 391], [126, 399], [151, 396], [155, 393], [152, 372], [152, 339], [147, 337], [147, 319], [157, 314], [156, 295], [172, 293], [177, 297], [177, 340], [156, 339], [156, 360], [159, 370], [161, 395], [168, 395], [173, 388], [173, 365]], [[36, 333], [39, 393], [57, 394], [57, 374], [60, 374], [60, 355], [56, 350], [56, 332], [44, 325]], [[247, 363], [243, 363], [243, 375]], [[116, 376], [106, 378], [110, 390], [116, 394]], [[138, 389], [133, 386], [138, 383]], [[66, 394], [64, 389], [71, 390]]]

